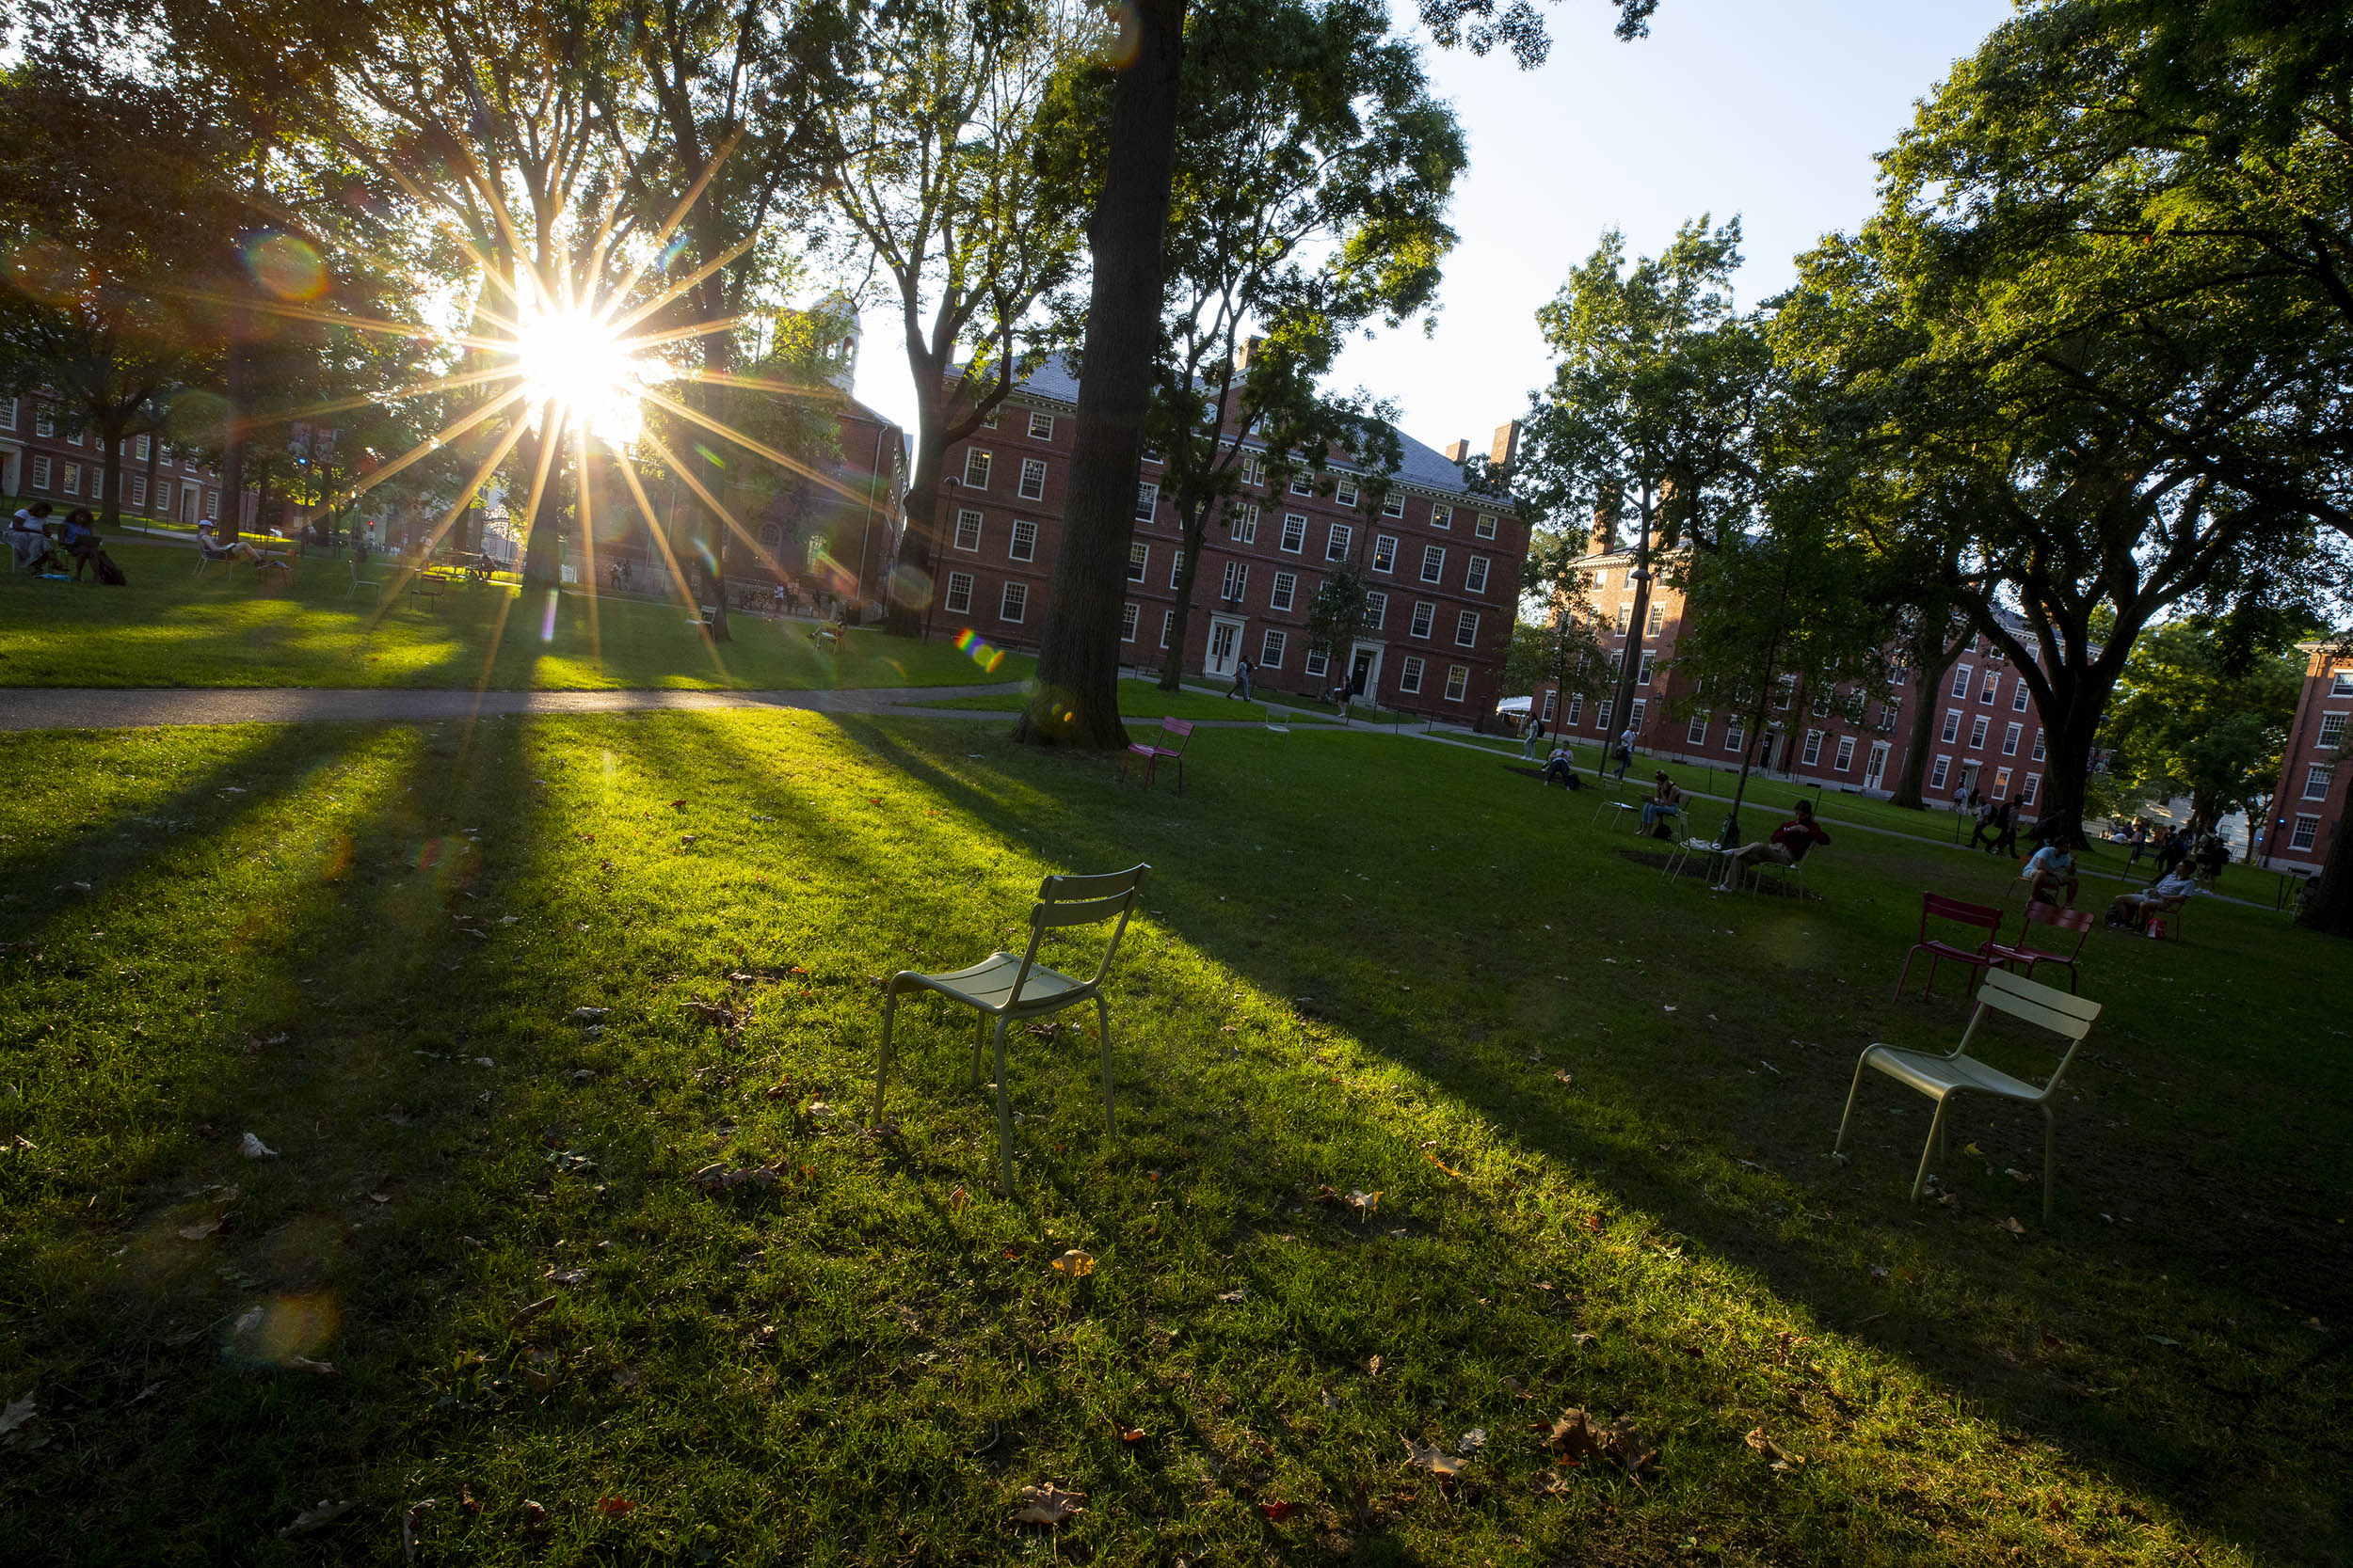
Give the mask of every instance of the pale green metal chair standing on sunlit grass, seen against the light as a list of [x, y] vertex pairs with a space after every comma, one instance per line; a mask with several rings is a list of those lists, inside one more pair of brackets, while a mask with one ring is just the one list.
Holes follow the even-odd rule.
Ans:
[[[993, 952], [972, 969], [958, 969], [944, 976], [927, 976], [913, 969], [894, 973], [882, 987], [882, 1060], [875, 1063], [873, 1124], [882, 1124], [882, 1088], [889, 1079], [889, 1037], [892, 1020], [899, 1011], [899, 992], [929, 990], [948, 997], [951, 1001], [962, 1001], [979, 1013], [979, 1032], [972, 1041], [974, 1086], [981, 1081], [981, 1051], [988, 1048], [991, 1037], [995, 1039], [998, 1171], [1005, 1182], [1005, 1192], [1014, 1190], [1014, 1112], [1012, 1100], [1005, 1093], [1005, 1027], [1014, 1020], [1059, 1013], [1061, 1009], [1078, 1006], [1082, 1001], [1094, 1004], [1094, 1013], [1101, 1020], [1104, 1032], [1104, 1131], [1118, 1133], [1111, 1117], [1111, 1001], [1104, 999], [1104, 976], [1111, 973], [1111, 959], [1120, 952], [1120, 938], [1127, 933], [1127, 917], [1134, 914], [1136, 898], [1144, 891], [1144, 877], [1151, 870], [1151, 865], [1132, 865], [1125, 872], [1106, 872], [1101, 877], [1047, 877], [1038, 884], [1038, 905], [1031, 910], [1028, 950], [1019, 957], [1012, 952]], [[1092, 980], [1078, 980], [1038, 961], [1038, 945], [1045, 940], [1047, 931], [1092, 926], [1106, 919], [1118, 919], [1120, 924], [1111, 929], [1111, 940], [1104, 945], [1104, 961], [1094, 966]], [[995, 1020], [993, 1030], [991, 1018]]]

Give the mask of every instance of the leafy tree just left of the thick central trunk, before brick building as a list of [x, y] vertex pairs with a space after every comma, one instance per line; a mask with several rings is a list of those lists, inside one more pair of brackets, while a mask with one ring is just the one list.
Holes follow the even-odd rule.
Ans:
[[826, 106], [826, 195], [899, 296], [915, 461], [892, 630], [915, 635], [939, 548], [941, 456], [1059, 341], [1040, 303], [1078, 270], [1101, 24], [1068, 0], [875, 12], [856, 92]]

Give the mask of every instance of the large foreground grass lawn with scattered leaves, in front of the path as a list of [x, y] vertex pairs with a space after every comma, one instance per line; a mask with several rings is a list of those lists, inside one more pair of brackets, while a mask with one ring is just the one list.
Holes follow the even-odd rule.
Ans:
[[[1461, 748], [1191, 762], [805, 712], [14, 736], [0, 1561], [2353, 1552], [2341, 947], [2094, 931], [2057, 1220], [1984, 1105], [1911, 1206], [1925, 1100], [1831, 1133], [1866, 1041], [1965, 1020], [1889, 1001], [1920, 886], [2007, 865], [1852, 835], [1821, 900], [1727, 898]], [[1092, 1025], [1024, 1030], [993, 1194], [922, 1004], [861, 1138], [871, 980], [1132, 860], [1118, 1138]], [[1657, 1465], [1551, 1460], [1565, 1408]], [[1087, 1493], [1052, 1540], [1045, 1483]]]

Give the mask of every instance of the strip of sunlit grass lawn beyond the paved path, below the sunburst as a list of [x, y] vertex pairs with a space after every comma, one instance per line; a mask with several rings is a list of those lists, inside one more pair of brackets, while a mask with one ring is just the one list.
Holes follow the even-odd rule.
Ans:
[[995, 675], [946, 642], [852, 632], [821, 651], [807, 623], [732, 616], [734, 639], [708, 642], [675, 604], [544, 595], [452, 583], [440, 602], [395, 592], [376, 559], [384, 604], [351, 597], [351, 567], [313, 555], [285, 592], [252, 569], [195, 552], [108, 541], [129, 588], [0, 578], [0, 686], [955, 686], [1021, 679], [1012, 656]]

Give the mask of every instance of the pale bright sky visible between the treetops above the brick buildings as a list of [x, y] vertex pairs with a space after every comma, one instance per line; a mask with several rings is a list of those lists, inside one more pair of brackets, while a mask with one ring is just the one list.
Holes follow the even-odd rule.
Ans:
[[[1395, 14], [1412, 7], [1393, 0]], [[2009, 0], [1661, 0], [1649, 38], [1619, 42], [1607, 0], [1546, 7], [1553, 56], [1424, 49], [1435, 92], [1471, 141], [1435, 331], [1419, 322], [1351, 343], [1337, 390], [1400, 409], [1428, 447], [1527, 409], [1551, 376], [1537, 308], [1602, 230], [1657, 254], [1675, 226], [1739, 214], [1741, 303], [1784, 289], [1817, 237], [1875, 205], [1875, 153]], [[913, 428], [894, 310], [868, 310], [856, 395]]]

